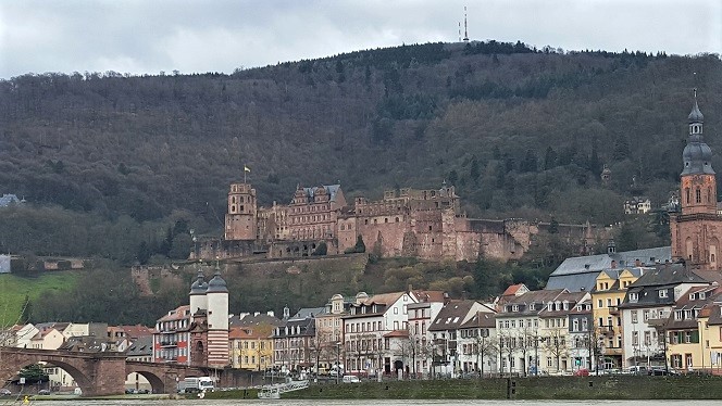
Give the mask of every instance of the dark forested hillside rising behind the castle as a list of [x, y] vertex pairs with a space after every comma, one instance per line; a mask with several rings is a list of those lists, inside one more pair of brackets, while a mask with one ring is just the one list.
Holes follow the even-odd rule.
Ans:
[[145, 244], [147, 256], [165, 244], [167, 254], [176, 231], [220, 234], [244, 165], [266, 205], [288, 202], [299, 183], [340, 182], [347, 195], [376, 199], [446, 180], [470, 216], [611, 224], [624, 199], [659, 204], [674, 189], [695, 86], [722, 168], [717, 55], [489, 41], [231, 75], [28, 74], [0, 81], [0, 193], [32, 206], [2, 216], [22, 234], [0, 238], [0, 250], [129, 261], [138, 253], [119, 246]]

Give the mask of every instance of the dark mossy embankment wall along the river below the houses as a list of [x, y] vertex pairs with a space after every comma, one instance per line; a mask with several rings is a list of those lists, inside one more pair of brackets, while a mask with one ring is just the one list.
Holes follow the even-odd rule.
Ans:
[[[256, 390], [207, 398], [253, 398]], [[722, 377], [535, 377], [312, 384], [283, 394], [296, 399], [722, 399]]]

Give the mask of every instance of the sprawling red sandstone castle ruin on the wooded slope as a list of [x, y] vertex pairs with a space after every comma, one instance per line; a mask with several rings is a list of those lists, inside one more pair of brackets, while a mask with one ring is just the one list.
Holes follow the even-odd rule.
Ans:
[[550, 231], [571, 243], [592, 246], [597, 232], [587, 225], [550, 225], [523, 219], [471, 219], [460, 210], [452, 186], [386, 191], [379, 201], [346, 201], [340, 185], [298, 187], [288, 205], [258, 207], [256, 190], [234, 182], [223, 239], [196, 243], [194, 258], [310, 256], [349, 253], [360, 239], [365, 251], [384, 257], [475, 261], [520, 258], [535, 236]]

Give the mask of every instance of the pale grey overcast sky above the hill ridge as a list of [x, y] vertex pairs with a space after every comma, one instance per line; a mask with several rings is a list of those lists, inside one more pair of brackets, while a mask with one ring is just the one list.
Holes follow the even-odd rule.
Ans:
[[453, 42], [464, 5], [472, 40], [722, 53], [722, 0], [1, 0], [0, 78], [232, 73], [377, 47]]

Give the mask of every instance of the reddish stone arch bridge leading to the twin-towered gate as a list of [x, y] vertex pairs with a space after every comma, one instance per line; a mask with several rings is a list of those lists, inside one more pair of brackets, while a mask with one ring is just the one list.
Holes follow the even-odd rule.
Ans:
[[0, 382], [16, 377], [22, 368], [38, 363], [64, 369], [80, 388], [83, 396], [123, 394], [125, 379], [132, 372], [148, 379], [153, 393], [175, 392], [177, 381], [186, 377], [209, 375], [206, 368], [126, 360], [123, 353], [0, 347]]

